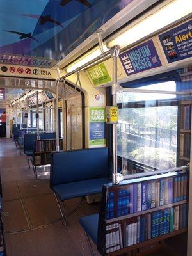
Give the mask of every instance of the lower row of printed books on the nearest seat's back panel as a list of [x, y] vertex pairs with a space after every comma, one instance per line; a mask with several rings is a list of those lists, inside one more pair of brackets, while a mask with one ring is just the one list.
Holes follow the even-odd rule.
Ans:
[[[129, 219], [127, 220], [129, 221]], [[187, 204], [106, 226], [106, 253], [186, 228]]]

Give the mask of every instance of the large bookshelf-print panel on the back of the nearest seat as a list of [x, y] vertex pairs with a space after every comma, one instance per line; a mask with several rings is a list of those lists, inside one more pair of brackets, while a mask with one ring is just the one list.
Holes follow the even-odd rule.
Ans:
[[187, 231], [188, 173], [158, 176], [106, 186], [100, 211], [106, 215], [99, 223], [104, 237], [97, 244], [101, 255], [122, 255]]

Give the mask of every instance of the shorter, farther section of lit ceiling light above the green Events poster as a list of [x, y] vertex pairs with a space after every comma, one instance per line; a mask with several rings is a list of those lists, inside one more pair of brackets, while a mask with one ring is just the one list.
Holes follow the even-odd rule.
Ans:
[[[108, 51], [108, 48], [106, 45], [104, 45], [104, 51]], [[67, 67], [67, 73], [70, 73], [74, 70], [76, 70], [77, 68], [83, 66], [84, 64], [88, 63], [89, 61], [97, 58], [98, 56], [100, 56], [100, 48], [95, 49], [95, 51], [89, 52], [86, 56], [84, 56], [82, 59], [76, 61], [75, 63], [73, 63], [71, 66]]]

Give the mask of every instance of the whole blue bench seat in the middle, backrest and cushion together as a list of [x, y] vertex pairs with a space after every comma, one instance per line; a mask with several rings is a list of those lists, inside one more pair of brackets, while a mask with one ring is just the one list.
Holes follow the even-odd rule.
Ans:
[[[52, 153], [50, 186], [62, 202], [101, 193], [102, 184], [109, 182], [108, 148]], [[65, 223], [66, 215], [63, 212]]]

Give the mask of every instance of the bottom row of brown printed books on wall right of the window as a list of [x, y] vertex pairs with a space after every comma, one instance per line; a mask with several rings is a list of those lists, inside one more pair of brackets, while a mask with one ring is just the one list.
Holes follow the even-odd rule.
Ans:
[[180, 133], [180, 157], [190, 158], [191, 134]]

